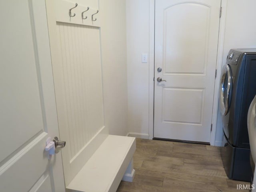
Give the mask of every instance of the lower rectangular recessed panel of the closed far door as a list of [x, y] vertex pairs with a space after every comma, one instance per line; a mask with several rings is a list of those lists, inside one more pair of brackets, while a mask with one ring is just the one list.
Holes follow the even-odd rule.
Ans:
[[[205, 90], [200, 88], [164, 87], [162, 94], [162, 122], [202, 126], [204, 92]], [[181, 100], [182, 102], [180, 102]]]

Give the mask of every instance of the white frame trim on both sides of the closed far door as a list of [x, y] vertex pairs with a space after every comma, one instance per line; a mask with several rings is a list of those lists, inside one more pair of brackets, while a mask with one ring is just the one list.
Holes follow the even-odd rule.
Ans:
[[[219, 79], [222, 68], [223, 48], [224, 48], [224, 35], [226, 24], [226, 7], [228, 0], [221, 0], [222, 16], [220, 18], [220, 30], [218, 40], [218, 53], [217, 53], [217, 74], [214, 87], [214, 101], [212, 110], [212, 132], [210, 136], [210, 145], [215, 145], [217, 115], [218, 115], [218, 102], [219, 102]], [[154, 137], [154, 46], [155, 46], [155, 0], [149, 0], [149, 122], [148, 134], [149, 139]]]

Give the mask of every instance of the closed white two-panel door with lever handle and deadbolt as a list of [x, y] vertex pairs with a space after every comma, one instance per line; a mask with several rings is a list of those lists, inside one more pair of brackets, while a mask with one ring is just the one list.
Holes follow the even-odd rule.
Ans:
[[210, 142], [220, 3], [156, 1], [155, 138]]

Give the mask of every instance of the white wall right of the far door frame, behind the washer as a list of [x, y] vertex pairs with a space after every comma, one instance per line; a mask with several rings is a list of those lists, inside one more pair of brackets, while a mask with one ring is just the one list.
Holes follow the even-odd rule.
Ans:
[[[228, 0], [222, 66], [232, 48], [256, 48], [256, 1]], [[222, 42], [223, 44], [223, 42]], [[218, 111], [215, 144], [222, 144], [222, 122]]]

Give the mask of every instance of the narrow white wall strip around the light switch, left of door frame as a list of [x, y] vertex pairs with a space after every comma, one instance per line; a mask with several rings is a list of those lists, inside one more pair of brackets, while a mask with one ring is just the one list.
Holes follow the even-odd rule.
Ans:
[[149, 52], [149, 1], [126, 0], [128, 129], [148, 138], [149, 66], [141, 54]]

